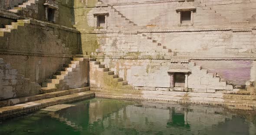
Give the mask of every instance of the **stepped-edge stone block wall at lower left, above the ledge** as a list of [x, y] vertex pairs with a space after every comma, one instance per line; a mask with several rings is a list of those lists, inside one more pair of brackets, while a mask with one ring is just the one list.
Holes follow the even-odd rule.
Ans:
[[0, 100], [35, 95], [40, 92], [40, 88], [38, 83], [24, 78], [11, 64], [0, 59]]

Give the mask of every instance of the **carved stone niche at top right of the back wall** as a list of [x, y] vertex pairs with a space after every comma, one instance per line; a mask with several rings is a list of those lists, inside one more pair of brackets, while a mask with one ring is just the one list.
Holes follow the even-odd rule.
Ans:
[[176, 8], [178, 13], [178, 26], [193, 26], [193, 13], [196, 11], [196, 7], [192, 2], [180, 2]]

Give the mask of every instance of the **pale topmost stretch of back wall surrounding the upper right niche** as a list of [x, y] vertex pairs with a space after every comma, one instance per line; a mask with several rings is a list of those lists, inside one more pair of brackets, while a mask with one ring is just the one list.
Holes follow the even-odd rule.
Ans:
[[[116, 1], [102, 0], [113, 5], [126, 18], [138, 26], [177, 26], [177, 7], [195, 6], [194, 26], [220, 25], [234, 22], [246, 22], [255, 15], [256, 2], [252, 0], [194, 0], [184, 5], [178, 0], [154, 1]], [[159, 0], [158, 0], [159, 1]], [[133, 3], [138, 2], [138, 3]], [[115, 3], [115, 4], [114, 4]], [[226, 8], [228, 6], [228, 8]], [[255, 19], [255, 18], [254, 18]], [[253, 19], [253, 20], [254, 20]], [[251, 21], [250, 23], [253, 23]]]

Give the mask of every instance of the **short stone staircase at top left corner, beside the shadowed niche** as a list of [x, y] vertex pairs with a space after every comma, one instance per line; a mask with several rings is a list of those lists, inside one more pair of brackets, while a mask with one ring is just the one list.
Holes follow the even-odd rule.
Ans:
[[25, 3], [22, 3], [22, 5], [17, 5], [17, 7], [12, 7], [9, 11], [18, 13], [20, 10], [23, 10], [23, 8], [32, 9], [35, 10], [36, 4], [39, 3], [38, 0], [27, 0]]

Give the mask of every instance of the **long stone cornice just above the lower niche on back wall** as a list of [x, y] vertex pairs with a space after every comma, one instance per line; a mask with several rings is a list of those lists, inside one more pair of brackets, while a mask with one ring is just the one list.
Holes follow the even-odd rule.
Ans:
[[236, 57], [215, 57], [215, 56], [91, 56], [97, 59], [153, 59], [153, 60], [175, 60], [177, 58], [187, 58], [190, 60], [213, 60], [213, 61], [238, 61], [238, 60], [252, 60], [256, 61], [256, 56], [236, 56]]

